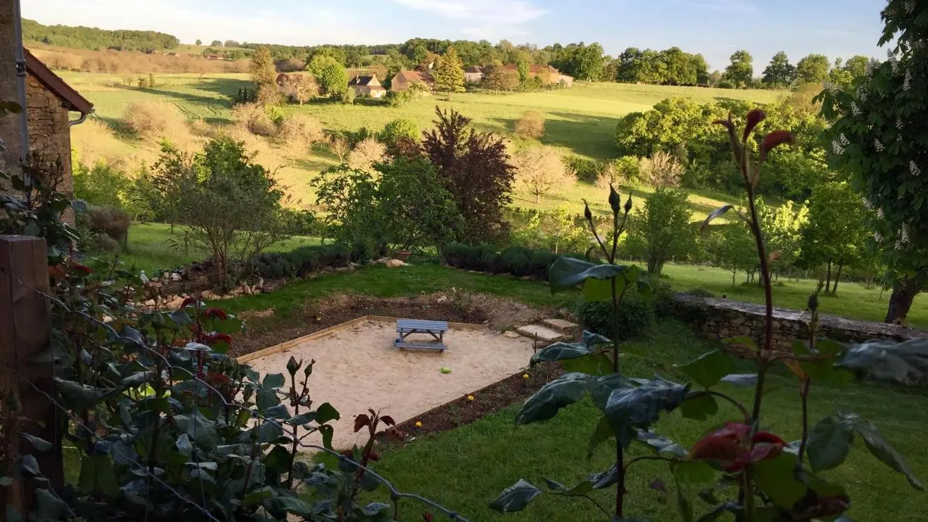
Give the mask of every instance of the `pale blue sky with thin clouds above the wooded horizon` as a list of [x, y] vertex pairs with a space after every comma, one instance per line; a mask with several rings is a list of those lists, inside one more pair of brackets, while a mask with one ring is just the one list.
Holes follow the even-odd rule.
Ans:
[[45, 24], [168, 32], [200, 39], [286, 45], [392, 44], [409, 38], [486, 39], [539, 46], [599, 42], [677, 45], [724, 69], [738, 49], [762, 69], [777, 51], [795, 63], [883, 57], [885, 0], [20, 0]]

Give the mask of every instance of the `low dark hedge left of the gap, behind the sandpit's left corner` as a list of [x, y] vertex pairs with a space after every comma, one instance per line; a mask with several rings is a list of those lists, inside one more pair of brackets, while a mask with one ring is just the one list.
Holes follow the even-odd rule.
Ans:
[[252, 271], [267, 279], [303, 277], [324, 268], [348, 266], [351, 249], [340, 244], [299, 247], [289, 252], [272, 252], [251, 258]]

